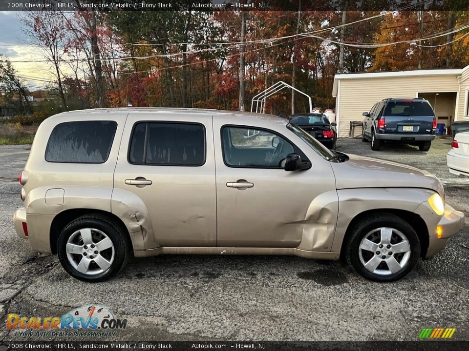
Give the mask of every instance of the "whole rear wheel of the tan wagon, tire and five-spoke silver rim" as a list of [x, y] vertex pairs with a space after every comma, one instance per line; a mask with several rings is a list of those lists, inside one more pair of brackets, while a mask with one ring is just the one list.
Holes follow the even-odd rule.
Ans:
[[122, 230], [107, 217], [85, 215], [70, 222], [59, 235], [57, 253], [65, 271], [87, 282], [107, 280], [128, 259]]

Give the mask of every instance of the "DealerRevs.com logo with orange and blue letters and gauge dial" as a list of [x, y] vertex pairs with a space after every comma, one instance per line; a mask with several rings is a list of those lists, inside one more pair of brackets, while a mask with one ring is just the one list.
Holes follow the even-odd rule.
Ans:
[[6, 327], [21, 337], [113, 337], [127, 328], [127, 319], [115, 318], [107, 307], [83, 305], [62, 317], [21, 317], [8, 314]]

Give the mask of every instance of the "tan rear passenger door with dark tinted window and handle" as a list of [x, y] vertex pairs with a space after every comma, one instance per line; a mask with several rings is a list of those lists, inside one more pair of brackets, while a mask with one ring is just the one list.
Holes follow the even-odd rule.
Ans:
[[212, 116], [130, 113], [114, 189], [145, 203], [155, 239], [147, 242], [216, 246]]

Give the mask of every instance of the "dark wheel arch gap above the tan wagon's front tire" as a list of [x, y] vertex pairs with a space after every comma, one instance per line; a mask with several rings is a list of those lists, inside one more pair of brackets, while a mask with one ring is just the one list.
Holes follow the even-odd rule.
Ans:
[[429, 236], [428, 236], [428, 228], [426, 226], [424, 219], [420, 215], [414, 212], [410, 212], [406, 210], [399, 210], [399, 209], [382, 208], [382, 209], [373, 209], [373, 210], [364, 211], [364, 212], [359, 213], [358, 215], [355, 215], [355, 217], [352, 218], [352, 220], [347, 226], [345, 235], [343, 236], [342, 243], [341, 243], [340, 259], [342, 261], [344, 261], [345, 259], [345, 252], [346, 252], [345, 246], [347, 245], [348, 239], [350, 235], [352, 234], [352, 228], [355, 226], [356, 223], [360, 222], [362, 219], [365, 219], [372, 215], [377, 215], [377, 214], [393, 214], [405, 220], [415, 230], [415, 233], [417, 233], [417, 236], [419, 237], [419, 240], [420, 240], [420, 256], [425, 257], [430, 241], [429, 241]]

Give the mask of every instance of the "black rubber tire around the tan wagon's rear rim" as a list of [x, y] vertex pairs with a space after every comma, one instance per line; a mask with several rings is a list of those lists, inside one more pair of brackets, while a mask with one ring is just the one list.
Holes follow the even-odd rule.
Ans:
[[[92, 239], [93, 243], [95, 243], [95, 240], [97, 243], [100, 240], [100, 236], [101, 238], [105, 237], [102, 236], [102, 234], [100, 234], [99, 232], [105, 234], [112, 242], [112, 248], [103, 250], [102, 253], [98, 252], [100, 255], [103, 255], [101, 257], [105, 257], [106, 254], [106, 259], [107, 257], [111, 256], [108, 259], [108, 262], [111, 262], [111, 264], [106, 270], [101, 269], [95, 261], [90, 260], [91, 258], [95, 258], [94, 256], [92, 256], [94, 254], [94, 251], [88, 253], [87, 256], [87, 258], [90, 260], [87, 269], [89, 268], [91, 270], [92, 268], [95, 268], [95, 271], [102, 270], [104, 272], [93, 274], [82, 273], [79, 272], [77, 268], [75, 268], [70, 262], [66, 249], [67, 241], [72, 235], [74, 235], [74, 238], [76, 238], [76, 240], [78, 240], [79, 242], [80, 240], [82, 240], [83, 243], [83, 235], [81, 234], [83, 232], [77, 234], [78, 231], [83, 229], [91, 229], [90, 237], [94, 236]], [[96, 237], [97, 239], [95, 239]], [[83, 248], [85, 248], [85, 246], [83, 246]], [[96, 250], [97, 248], [98, 247], [96, 246], [94, 250]], [[89, 247], [89, 249], [91, 249], [91, 246]], [[115, 223], [113, 223], [109, 218], [104, 215], [84, 215], [71, 221], [59, 235], [59, 240], [57, 241], [57, 253], [59, 256], [60, 263], [62, 264], [62, 267], [64, 267], [64, 270], [74, 278], [86, 282], [101, 282], [115, 276], [124, 268], [129, 256], [129, 245], [122, 229]], [[85, 254], [86, 252], [83, 255]], [[70, 254], [70, 256], [72, 257], [72, 261], [74, 262], [81, 262], [81, 259], [84, 258], [81, 257], [81, 254]], [[96, 255], [96, 257], [98, 257], [98, 255]]]

